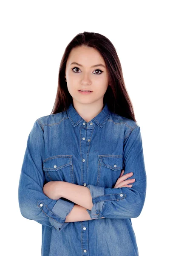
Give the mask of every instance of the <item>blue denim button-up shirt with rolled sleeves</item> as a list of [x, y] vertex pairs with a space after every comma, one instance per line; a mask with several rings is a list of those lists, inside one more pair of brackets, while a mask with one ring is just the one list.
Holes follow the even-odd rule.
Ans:
[[[133, 186], [113, 188], [133, 172]], [[74, 202], [43, 193], [51, 180], [90, 189], [89, 221], [65, 222]], [[130, 218], [137, 218], [146, 196], [140, 127], [105, 104], [86, 122], [70, 104], [67, 111], [38, 118], [28, 136], [19, 181], [23, 217], [42, 224], [42, 256], [138, 256]], [[105, 217], [105, 218], [102, 218]]]

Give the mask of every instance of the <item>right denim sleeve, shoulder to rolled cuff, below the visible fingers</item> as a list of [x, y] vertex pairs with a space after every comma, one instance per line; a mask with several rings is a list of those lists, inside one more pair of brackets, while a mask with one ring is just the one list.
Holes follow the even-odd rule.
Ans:
[[133, 172], [133, 186], [105, 188], [88, 185], [93, 207], [87, 209], [91, 218], [136, 218], [142, 212], [146, 197], [147, 176], [144, 165], [142, 137], [139, 125], [125, 136], [123, 149], [123, 175]]

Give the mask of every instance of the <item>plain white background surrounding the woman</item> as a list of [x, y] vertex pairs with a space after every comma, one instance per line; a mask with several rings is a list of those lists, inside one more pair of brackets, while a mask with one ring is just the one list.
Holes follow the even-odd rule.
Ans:
[[41, 255], [41, 224], [20, 214], [21, 166], [35, 120], [52, 111], [65, 47], [75, 35], [84, 31], [105, 35], [116, 48], [141, 128], [147, 195], [141, 214], [131, 219], [139, 256], [168, 255], [168, 2], [0, 2], [0, 231], [3, 256]]

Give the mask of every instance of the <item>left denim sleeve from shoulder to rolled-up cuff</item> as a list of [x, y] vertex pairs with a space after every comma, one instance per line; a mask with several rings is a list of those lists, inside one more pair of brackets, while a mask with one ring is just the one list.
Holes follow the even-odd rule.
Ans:
[[74, 207], [74, 202], [59, 198], [53, 200], [43, 193], [45, 173], [44, 131], [38, 119], [28, 136], [18, 187], [20, 212], [23, 217], [61, 231], [69, 222], [66, 216]]

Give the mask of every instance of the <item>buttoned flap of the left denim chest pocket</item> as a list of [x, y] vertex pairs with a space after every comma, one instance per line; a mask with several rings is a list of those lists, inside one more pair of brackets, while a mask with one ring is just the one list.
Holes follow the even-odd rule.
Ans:
[[54, 157], [48, 157], [43, 160], [43, 169], [45, 171], [58, 171], [66, 166], [72, 165], [71, 155], [58, 155]]

